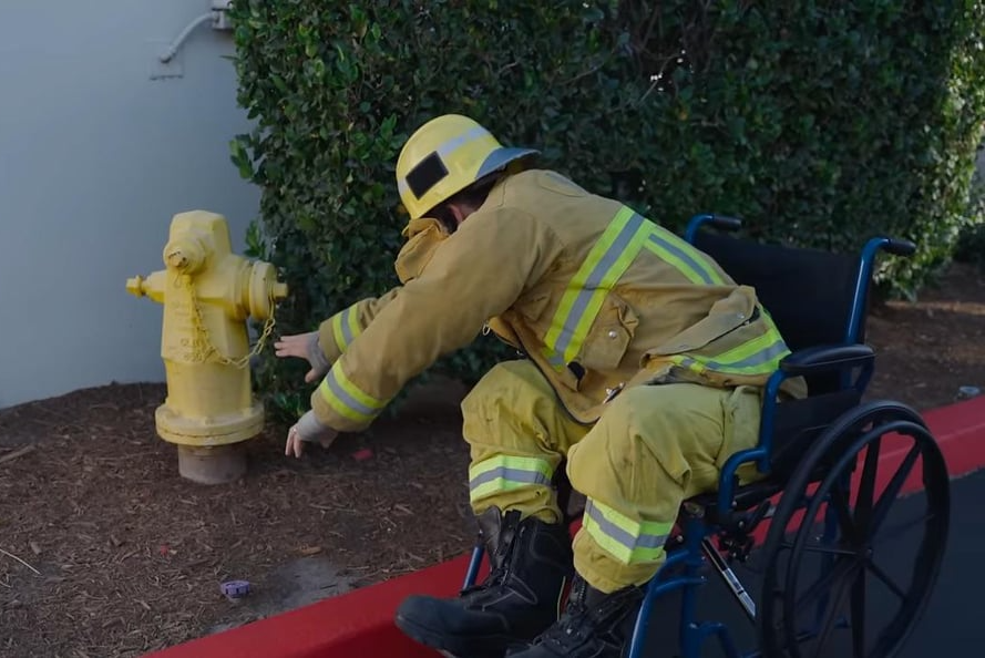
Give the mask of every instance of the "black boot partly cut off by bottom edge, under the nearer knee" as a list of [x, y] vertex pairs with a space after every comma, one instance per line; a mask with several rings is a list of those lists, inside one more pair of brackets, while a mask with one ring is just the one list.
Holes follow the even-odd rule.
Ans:
[[623, 658], [636, 616], [643, 604], [640, 587], [624, 587], [603, 594], [575, 576], [567, 607], [561, 619], [529, 647], [507, 654], [509, 658]]

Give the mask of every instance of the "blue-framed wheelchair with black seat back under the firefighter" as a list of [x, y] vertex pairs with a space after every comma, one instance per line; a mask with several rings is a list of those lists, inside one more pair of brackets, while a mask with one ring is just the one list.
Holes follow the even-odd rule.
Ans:
[[[737, 282], [756, 288], [792, 353], [766, 387], [758, 444], [725, 463], [717, 491], [681, 505], [666, 561], [646, 585], [628, 657], [644, 656], [655, 603], [670, 594], [680, 598], [679, 658], [706, 655], [712, 638], [728, 658], [894, 656], [936, 585], [951, 511], [947, 466], [921, 415], [900, 402], [863, 401], [875, 359], [864, 343], [875, 257], [882, 250], [910, 256], [915, 245], [876, 237], [860, 255], [840, 255], [727, 235], [740, 228], [735, 218], [697, 215], [685, 239]], [[780, 384], [794, 377], [804, 378], [808, 397], [780, 400]], [[902, 462], [878, 492], [886, 453], [903, 455]], [[755, 465], [758, 479], [740, 484], [743, 465]], [[904, 568], [910, 582], [901, 584], [878, 561], [894, 552], [901, 526], [887, 520], [914, 479], [925, 495], [919, 518], [902, 526], [916, 532], [907, 544], [917, 551]], [[565, 510], [570, 485], [563, 477], [558, 484]], [[577, 517], [567, 514], [568, 522]], [[760, 565], [758, 597], [732, 570], [750, 556]], [[465, 587], [475, 582], [482, 557], [480, 542]], [[725, 623], [698, 619], [697, 594], [708, 573], [751, 624], [746, 634], [751, 630], [753, 650], [740, 652]], [[876, 586], [891, 604], [879, 604]], [[884, 624], [872, 623], [872, 602], [887, 617]]]

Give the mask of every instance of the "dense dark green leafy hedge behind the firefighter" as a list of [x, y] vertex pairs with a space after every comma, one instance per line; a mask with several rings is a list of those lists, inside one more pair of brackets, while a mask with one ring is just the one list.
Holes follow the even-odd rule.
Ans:
[[[587, 4], [587, 7], [585, 7]], [[856, 249], [920, 243], [880, 276], [914, 292], [966, 222], [985, 115], [985, 2], [238, 0], [233, 143], [263, 187], [256, 256], [293, 289], [281, 330], [397, 282], [393, 165], [427, 119], [469, 114], [545, 166], [681, 228]], [[444, 366], [466, 380], [496, 348]], [[297, 369], [259, 369], [281, 407]]]

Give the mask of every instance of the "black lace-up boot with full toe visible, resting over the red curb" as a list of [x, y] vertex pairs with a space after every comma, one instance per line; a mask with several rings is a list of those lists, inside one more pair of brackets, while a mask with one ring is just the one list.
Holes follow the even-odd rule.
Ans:
[[397, 610], [397, 626], [445, 656], [502, 658], [525, 646], [560, 615], [561, 596], [574, 573], [564, 524], [493, 507], [479, 516], [490, 575], [459, 598], [411, 596]]

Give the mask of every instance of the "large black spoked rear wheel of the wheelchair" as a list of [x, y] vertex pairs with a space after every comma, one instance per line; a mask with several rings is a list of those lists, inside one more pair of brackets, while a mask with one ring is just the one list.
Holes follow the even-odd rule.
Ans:
[[[880, 464], [886, 454], [902, 463]], [[880, 470], [891, 474], [880, 479]], [[900, 498], [916, 477], [924, 495]], [[868, 403], [825, 430], [770, 522], [757, 615], [762, 655], [894, 656], [936, 584], [950, 491], [940, 448], [905, 405]]]

